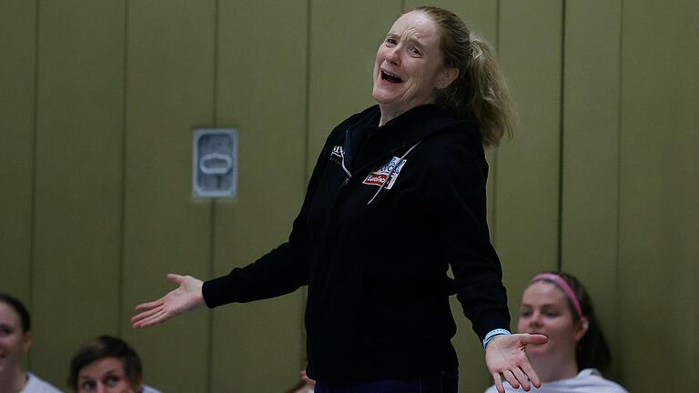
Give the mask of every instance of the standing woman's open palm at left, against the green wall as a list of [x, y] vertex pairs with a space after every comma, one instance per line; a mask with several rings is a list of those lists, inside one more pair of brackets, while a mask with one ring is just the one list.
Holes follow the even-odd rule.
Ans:
[[168, 274], [167, 281], [178, 284], [166, 296], [152, 302], [143, 303], [136, 307], [139, 312], [131, 318], [132, 328], [147, 328], [167, 321], [186, 311], [204, 306], [204, 296], [201, 287], [204, 284], [198, 278]]

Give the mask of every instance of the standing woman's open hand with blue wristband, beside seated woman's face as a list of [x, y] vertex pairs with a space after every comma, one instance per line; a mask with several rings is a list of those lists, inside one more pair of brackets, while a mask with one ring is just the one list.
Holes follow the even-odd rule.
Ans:
[[505, 393], [502, 378], [507, 379], [512, 388], [522, 387], [524, 391], [532, 388], [530, 382], [536, 388], [542, 387], [542, 382], [529, 363], [524, 348], [531, 344], [544, 344], [546, 341], [548, 338], [544, 335], [526, 333], [491, 338], [485, 348], [485, 364], [498, 392]]

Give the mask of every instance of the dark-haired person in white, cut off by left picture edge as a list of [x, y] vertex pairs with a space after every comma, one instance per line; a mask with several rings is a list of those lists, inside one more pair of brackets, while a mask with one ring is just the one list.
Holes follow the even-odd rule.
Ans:
[[31, 319], [17, 298], [0, 293], [0, 392], [60, 393], [21, 363], [32, 346]]

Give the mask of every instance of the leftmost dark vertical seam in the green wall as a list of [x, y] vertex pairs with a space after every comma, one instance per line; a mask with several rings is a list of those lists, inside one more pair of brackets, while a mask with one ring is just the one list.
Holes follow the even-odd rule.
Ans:
[[[35, 1], [34, 15], [34, 113], [32, 114], [32, 180], [31, 180], [31, 201], [29, 202], [29, 291], [27, 303], [34, 309], [34, 279], [35, 279], [35, 259], [36, 259], [36, 161], [38, 150], [38, 128], [39, 128], [39, 13], [40, 1]], [[29, 354], [31, 355], [31, 354]], [[27, 358], [27, 366], [31, 369], [31, 356]]]

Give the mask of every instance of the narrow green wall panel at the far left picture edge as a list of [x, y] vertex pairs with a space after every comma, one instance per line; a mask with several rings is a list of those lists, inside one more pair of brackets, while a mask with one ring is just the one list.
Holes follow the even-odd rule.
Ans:
[[35, 13], [25, 0], [0, 13], [0, 291], [30, 310]]

